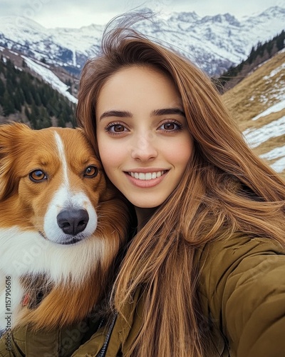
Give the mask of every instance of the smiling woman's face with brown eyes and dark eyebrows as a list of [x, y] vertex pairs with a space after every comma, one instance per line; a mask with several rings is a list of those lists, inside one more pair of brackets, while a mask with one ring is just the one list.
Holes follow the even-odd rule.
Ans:
[[172, 80], [148, 67], [121, 69], [100, 91], [96, 120], [110, 181], [135, 207], [160, 206], [180, 183], [193, 147]]

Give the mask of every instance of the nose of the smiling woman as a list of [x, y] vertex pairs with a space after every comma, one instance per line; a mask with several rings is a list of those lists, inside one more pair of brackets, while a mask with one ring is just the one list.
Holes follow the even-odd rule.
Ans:
[[131, 156], [133, 159], [148, 161], [157, 157], [155, 137], [151, 134], [140, 135], [135, 138]]

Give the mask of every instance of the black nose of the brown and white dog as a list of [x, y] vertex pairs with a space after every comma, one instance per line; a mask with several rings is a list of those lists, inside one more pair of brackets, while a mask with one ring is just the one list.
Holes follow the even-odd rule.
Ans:
[[64, 233], [76, 236], [86, 228], [89, 215], [85, 209], [71, 209], [58, 213], [57, 221]]

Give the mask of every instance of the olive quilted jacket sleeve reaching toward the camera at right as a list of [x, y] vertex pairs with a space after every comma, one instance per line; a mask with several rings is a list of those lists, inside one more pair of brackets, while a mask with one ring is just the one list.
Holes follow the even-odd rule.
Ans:
[[208, 244], [200, 263], [204, 315], [229, 356], [285, 356], [284, 248], [235, 236]]

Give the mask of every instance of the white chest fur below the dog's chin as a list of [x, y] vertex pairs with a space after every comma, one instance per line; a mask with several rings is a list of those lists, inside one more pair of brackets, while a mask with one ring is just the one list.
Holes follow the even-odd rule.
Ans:
[[12, 326], [17, 321], [24, 298], [22, 276], [45, 274], [53, 283], [80, 283], [90, 266], [105, 254], [100, 238], [86, 240], [64, 246], [44, 239], [35, 231], [0, 228], [0, 331], [7, 328], [7, 316], [11, 316]]

